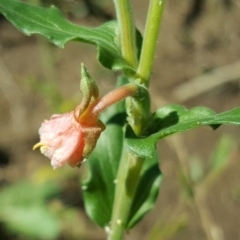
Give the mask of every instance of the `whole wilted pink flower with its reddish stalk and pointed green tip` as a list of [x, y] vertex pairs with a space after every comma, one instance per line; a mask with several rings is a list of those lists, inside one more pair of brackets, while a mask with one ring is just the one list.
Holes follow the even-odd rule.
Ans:
[[39, 129], [40, 142], [33, 147], [40, 147], [40, 151], [51, 159], [54, 169], [65, 163], [71, 167], [79, 167], [82, 160], [92, 153], [105, 129], [98, 120], [99, 114], [137, 91], [135, 84], [128, 84], [98, 98], [94, 81], [89, 78], [86, 69], [82, 70], [82, 102], [74, 111], [53, 115], [50, 120], [45, 120]]

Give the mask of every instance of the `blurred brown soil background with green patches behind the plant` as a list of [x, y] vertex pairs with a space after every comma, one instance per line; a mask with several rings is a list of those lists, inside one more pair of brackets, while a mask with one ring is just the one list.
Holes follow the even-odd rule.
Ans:
[[[115, 18], [110, 0], [26, 2], [54, 4], [85, 26]], [[166, 2], [150, 86], [153, 110], [169, 103], [215, 112], [238, 107], [240, 1]], [[132, 1], [142, 33], [148, 3]], [[53, 171], [32, 151], [41, 122], [79, 103], [82, 62], [101, 94], [114, 87], [117, 74], [97, 63], [93, 46], [58, 49], [41, 36], [24, 36], [0, 15], [0, 239], [105, 239], [84, 212], [84, 168]], [[126, 239], [240, 239], [239, 136], [239, 127], [204, 127], [161, 141], [165, 179], [157, 204]]]

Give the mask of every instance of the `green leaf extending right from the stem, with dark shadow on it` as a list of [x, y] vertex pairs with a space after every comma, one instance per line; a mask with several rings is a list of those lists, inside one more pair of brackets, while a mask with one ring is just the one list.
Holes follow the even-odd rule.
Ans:
[[240, 108], [216, 114], [205, 107], [187, 110], [183, 106], [168, 105], [153, 114], [149, 123], [148, 136], [138, 138], [127, 126], [126, 144], [139, 156], [153, 157], [159, 139], [200, 126], [209, 125], [216, 129], [221, 124], [240, 125]]

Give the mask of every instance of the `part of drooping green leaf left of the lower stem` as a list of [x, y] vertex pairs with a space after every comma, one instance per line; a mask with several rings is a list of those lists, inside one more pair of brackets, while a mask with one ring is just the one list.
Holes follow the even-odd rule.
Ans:
[[[112, 215], [117, 169], [122, 155], [124, 112], [117, 112], [119, 104], [103, 114], [106, 130], [87, 160], [90, 175], [82, 183], [85, 209], [89, 217], [101, 227], [109, 224]], [[114, 111], [115, 109], [115, 111]]]

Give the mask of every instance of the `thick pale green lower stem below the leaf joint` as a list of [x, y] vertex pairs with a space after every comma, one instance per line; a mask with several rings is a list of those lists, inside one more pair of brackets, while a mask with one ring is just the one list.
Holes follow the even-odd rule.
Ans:
[[116, 179], [113, 215], [108, 240], [123, 239], [143, 162], [144, 159], [124, 151]]

